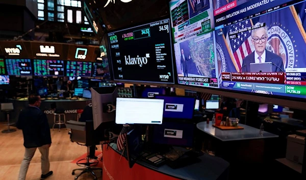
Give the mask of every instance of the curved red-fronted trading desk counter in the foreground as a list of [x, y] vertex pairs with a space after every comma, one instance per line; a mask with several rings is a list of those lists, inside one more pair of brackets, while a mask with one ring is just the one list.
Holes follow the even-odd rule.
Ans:
[[151, 166], [143, 161], [137, 161], [130, 169], [129, 162], [122, 157], [117, 145], [112, 143], [109, 148], [103, 147], [103, 180], [215, 180], [227, 179], [230, 164], [221, 158], [209, 155], [199, 157], [201, 162], [179, 169], [167, 165]]

